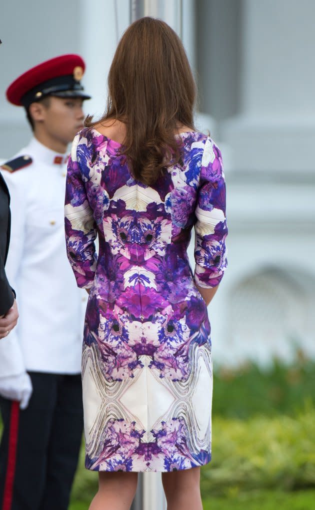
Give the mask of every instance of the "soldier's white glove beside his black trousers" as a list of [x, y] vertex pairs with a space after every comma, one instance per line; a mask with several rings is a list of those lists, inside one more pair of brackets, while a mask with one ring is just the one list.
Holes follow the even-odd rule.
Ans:
[[0, 395], [10, 400], [17, 400], [20, 402], [21, 409], [26, 409], [32, 392], [32, 381], [27, 372], [0, 377]]

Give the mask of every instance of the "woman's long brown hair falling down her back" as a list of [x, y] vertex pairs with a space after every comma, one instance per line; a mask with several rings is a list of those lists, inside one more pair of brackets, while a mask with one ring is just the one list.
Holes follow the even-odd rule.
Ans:
[[175, 133], [194, 129], [195, 82], [184, 46], [164, 21], [141, 18], [123, 34], [108, 74], [103, 117], [85, 120], [95, 126], [109, 119], [126, 124], [121, 149], [134, 177], [153, 184], [164, 167], [181, 157]]

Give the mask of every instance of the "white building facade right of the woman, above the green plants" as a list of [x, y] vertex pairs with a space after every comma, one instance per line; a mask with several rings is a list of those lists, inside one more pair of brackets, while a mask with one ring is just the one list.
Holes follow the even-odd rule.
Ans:
[[[210, 305], [214, 362], [268, 366], [273, 357], [292, 361], [298, 349], [314, 356], [315, 4], [202, 3], [209, 19], [220, 7], [222, 27], [238, 4], [239, 23], [223, 36], [238, 64], [225, 77], [238, 94], [230, 116], [216, 114], [213, 133], [225, 160], [230, 230], [229, 266]], [[198, 59], [203, 84], [216, 85], [213, 103], [204, 101], [210, 109], [221, 100], [212, 75], [222, 47], [218, 40], [208, 67], [200, 66], [205, 53]]]

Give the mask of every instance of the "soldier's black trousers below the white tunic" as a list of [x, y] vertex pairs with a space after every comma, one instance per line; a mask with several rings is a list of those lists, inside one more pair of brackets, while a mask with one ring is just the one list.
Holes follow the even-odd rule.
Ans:
[[8, 452], [9, 446], [14, 451], [12, 421], [17, 421], [18, 413], [10, 510], [67, 510], [83, 429], [81, 376], [29, 373], [33, 394], [27, 409], [18, 412], [11, 400], [0, 397], [4, 422], [0, 445], [0, 508], [5, 486], [6, 500], [10, 499], [8, 477], [12, 478], [12, 473], [9, 476], [6, 473], [8, 462], [10, 471], [14, 467]]

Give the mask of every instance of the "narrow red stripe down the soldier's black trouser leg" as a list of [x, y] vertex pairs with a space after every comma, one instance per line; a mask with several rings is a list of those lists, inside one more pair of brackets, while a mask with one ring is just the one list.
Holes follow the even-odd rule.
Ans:
[[5, 490], [3, 495], [2, 510], [10, 510], [13, 498], [13, 483], [16, 464], [17, 435], [19, 425], [20, 404], [13, 401], [11, 404], [10, 429], [9, 429], [9, 448], [8, 448], [8, 467], [6, 473]]

